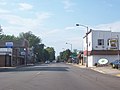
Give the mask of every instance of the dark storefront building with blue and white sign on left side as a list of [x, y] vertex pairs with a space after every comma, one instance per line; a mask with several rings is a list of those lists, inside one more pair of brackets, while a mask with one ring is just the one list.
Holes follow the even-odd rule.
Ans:
[[0, 67], [25, 65], [28, 61], [29, 42], [0, 41]]

